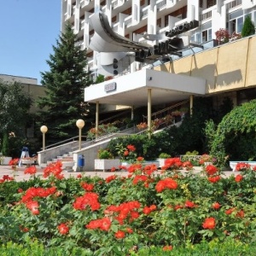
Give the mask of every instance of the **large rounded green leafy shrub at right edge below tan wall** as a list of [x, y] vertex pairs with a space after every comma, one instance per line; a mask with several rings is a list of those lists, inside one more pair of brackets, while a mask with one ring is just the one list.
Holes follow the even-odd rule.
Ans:
[[210, 153], [217, 157], [219, 165], [224, 165], [228, 159], [256, 159], [255, 114], [256, 100], [253, 100], [226, 114], [215, 132], [212, 125], [208, 125], [207, 137], [211, 147]]

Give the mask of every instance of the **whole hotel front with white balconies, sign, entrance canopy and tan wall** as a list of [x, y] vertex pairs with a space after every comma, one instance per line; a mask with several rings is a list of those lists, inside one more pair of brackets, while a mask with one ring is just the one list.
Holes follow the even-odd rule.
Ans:
[[[94, 78], [111, 77], [86, 88], [85, 102], [151, 108], [188, 99], [192, 108], [195, 96], [216, 106], [256, 98], [256, 37], [237, 38], [247, 15], [255, 24], [256, 0], [62, 0], [61, 8], [61, 30], [72, 24]], [[216, 40], [220, 29], [229, 42]]]

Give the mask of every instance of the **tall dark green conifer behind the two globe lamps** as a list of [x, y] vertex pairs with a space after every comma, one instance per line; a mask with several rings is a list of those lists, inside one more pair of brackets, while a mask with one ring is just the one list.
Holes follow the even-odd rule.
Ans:
[[86, 71], [86, 49], [76, 42], [73, 28], [67, 24], [53, 46], [54, 54], [46, 61], [49, 72], [41, 73], [45, 96], [37, 101], [42, 109], [37, 124], [48, 126], [49, 143], [77, 136], [76, 120], [85, 119], [89, 112], [84, 102], [84, 87], [91, 84], [90, 73]]

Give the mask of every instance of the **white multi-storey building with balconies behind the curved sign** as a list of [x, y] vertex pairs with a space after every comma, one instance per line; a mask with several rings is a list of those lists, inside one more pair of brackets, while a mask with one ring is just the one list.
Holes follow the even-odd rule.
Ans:
[[[178, 34], [178, 37], [183, 38], [184, 48], [189, 47], [191, 42], [203, 44], [215, 39], [215, 32], [220, 28], [226, 29], [230, 35], [234, 32], [240, 33], [247, 15], [250, 15], [254, 23], [256, 22], [256, 0], [61, 0], [61, 2], [61, 29], [63, 31], [67, 22], [72, 24], [79, 38], [77, 44], [87, 49], [89, 68], [95, 76], [132, 73], [148, 63], [152, 65], [159, 61], [156, 57], [150, 58], [149, 61], [135, 61], [136, 50], [131, 48], [121, 51], [105, 45], [103, 46], [105, 52], [102, 49], [95, 50], [91, 42], [96, 34], [96, 25], [91, 17], [98, 12], [107, 16], [113, 32], [130, 41], [152, 47], [166, 40], [166, 32], [172, 29], [178, 30], [191, 20], [199, 21], [198, 26]], [[99, 20], [99, 17], [95, 19]], [[101, 36], [95, 38], [95, 41], [99, 41]], [[182, 55], [172, 57], [175, 59]], [[113, 65], [113, 60], [118, 61], [118, 65]]]

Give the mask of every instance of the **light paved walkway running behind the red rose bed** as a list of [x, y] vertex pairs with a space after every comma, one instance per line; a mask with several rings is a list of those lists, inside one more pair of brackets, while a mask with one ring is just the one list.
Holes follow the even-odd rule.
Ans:
[[[43, 176], [43, 171], [44, 169], [41, 169], [40, 167], [37, 166], [38, 172], [36, 174], [36, 176]], [[17, 171], [15, 172], [15, 180], [16, 181], [22, 181], [22, 180], [28, 180], [31, 175], [30, 174], [24, 174], [24, 171], [26, 170], [26, 167], [18, 167]], [[185, 172], [185, 171], [182, 171]], [[191, 171], [191, 172], [200, 172], [198, 170], [198, 167], [195, 167], [195, 170]], [[92, 171], [92, 172], [62, 172], [64, 174], [64, 177], [77, 177], [79, 174], [82, 174], [84, 176], [88, 176], [88, 177], [109, 177], [113, 174], [119, 175], [119, 176], [127, 176], [129, 173], [125, 172], [125, 171], [119, 171], [119, 172], [99, 172], [99, 171]], [[160, 171], [157, 172], [157, 174], [160, 174]], [[226, 171], [223, 173], [223, 177], [230, 177], [230, 175], [237, 175], [237, 172], [232, 172], [232, 171]], [[14, 171], [11, 168], [11, 166], [0, 166], [0, 178], [3, 177], [3, 175], [9, 175], [9, 177], [13, 177], [14, 176]]]

